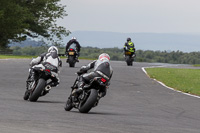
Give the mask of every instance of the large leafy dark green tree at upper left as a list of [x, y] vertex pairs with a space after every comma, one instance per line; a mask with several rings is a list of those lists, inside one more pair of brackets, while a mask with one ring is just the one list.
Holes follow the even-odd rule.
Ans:
[[56, 24], [57, 18], [66, 16], [60, 0], [1, 0], [0, 48], [7, 48], [9, 41], [23, 41], [29, 37], [44, 37], [57, 42], [68, 31]]

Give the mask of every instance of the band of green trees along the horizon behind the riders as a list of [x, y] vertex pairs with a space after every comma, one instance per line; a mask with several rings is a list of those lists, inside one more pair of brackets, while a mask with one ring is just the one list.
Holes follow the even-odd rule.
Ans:
[[[48, 47], [11, 47], [14, 55], [31, 55], [38, 56], [43, 52], [47, 52]], [[96, 48], [96, 47], [82, 47], [80, 51], [80, 58], [97, 59], [99, 54], [108, 53], [111, 60], [123, 61], [123, 49], [119, 48]], [[59, 48], [59, 54], [65, 54], [65, 48]], [[184, 53], [182, 51], [152, 51], [152, 50], [137, 50], [136, 62], [159, 62], [172, 64], [200, 64], [200, 52]]]

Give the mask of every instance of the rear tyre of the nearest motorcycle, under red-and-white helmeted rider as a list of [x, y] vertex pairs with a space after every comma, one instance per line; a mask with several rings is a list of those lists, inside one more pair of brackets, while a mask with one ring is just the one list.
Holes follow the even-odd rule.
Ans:
[[84, 104], [79, 105], [79, 112], [88, 113], [94, 104], [97, 102], [98, 92], [95, 89], [91, 89], [90, 94]]

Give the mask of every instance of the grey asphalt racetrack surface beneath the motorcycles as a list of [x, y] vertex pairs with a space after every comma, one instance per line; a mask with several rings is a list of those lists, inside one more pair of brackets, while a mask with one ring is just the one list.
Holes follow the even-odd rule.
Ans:
[[111, 61], [107, 95], [88, 114], [65, 111], [75, 72], [63, 59], [60, 85], [38, 102], [23, 100], [30, 59], [0, 60], [0, 133], [200, 133], [200, 99], [167, 89], [142, 67], [189, 65]]

